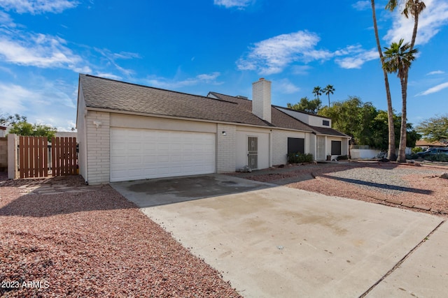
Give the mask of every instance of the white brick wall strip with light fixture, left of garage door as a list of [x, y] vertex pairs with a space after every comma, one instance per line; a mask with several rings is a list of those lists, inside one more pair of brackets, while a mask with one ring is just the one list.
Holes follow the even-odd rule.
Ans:
[[[94, 121], [101, 124], [97, 127]], [[87, 112], [87, 179], [89, 184], [109, 183], [110, 179], [110, 114]]]

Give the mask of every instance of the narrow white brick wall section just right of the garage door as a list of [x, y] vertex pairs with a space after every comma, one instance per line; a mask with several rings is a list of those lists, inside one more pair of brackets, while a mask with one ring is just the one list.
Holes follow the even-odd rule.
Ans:
[[235, 172], [237, 126], [217, 124], [216, 132], [216, 172]]

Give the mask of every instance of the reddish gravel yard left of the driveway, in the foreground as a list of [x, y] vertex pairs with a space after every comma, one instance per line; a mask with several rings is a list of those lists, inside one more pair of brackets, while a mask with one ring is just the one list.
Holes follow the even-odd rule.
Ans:
[[240, 297], [110, 186], [0, 184], [0, 283], [1, 297]]

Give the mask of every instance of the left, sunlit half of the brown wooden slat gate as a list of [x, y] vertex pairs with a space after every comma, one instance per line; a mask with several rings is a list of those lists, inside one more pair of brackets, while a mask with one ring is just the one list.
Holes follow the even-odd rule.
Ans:
[[19, 138], [20, 178], [48, 176], [47, 137]]

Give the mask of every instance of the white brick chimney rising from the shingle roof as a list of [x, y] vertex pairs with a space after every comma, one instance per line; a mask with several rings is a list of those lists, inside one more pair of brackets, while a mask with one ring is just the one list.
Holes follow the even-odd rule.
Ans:
[[271, 121], [271, 82], [264, 78], [252, 83], [252, 113]]

